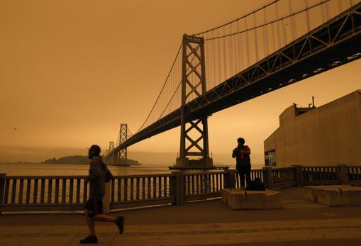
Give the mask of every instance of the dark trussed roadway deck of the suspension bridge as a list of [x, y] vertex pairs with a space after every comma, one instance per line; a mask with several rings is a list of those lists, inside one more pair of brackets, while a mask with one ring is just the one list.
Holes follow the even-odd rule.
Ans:
[[[210, 116], [360, 57], [361, 3], [190, 101], [185, 105], [186, 119]], [[178, 108], [135, 133], [114, 152], [179, 126], [180, 115]]]

